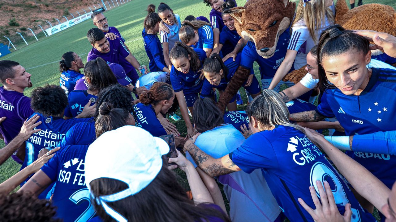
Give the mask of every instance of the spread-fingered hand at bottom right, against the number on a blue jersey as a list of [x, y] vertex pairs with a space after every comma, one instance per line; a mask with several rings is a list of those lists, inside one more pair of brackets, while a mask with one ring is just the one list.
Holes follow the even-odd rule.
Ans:
[[[316, 195], [316, 190], [314, 186], [309, 187], [311, 192], [312, 201], [314, 201], [316, 209], [312, 209], [303, 199], [298, 198], [299, 203], [304, 209], [312, 216], [316, 222], [350, 222], [352, 216], [352, 211], [350, 209], [350, 203], [345, 205], [345, 213], [341, 215], [338, 211], [337, 205], [334, 201], [333, 193], [331, 192], [330, 185], [327, 181], [324, 181], [323, 189], [322, 182], [316, 181], [316, 186], [318, 187], [320, 201]], [[320, 204], [322, 202], [322, 204]]]

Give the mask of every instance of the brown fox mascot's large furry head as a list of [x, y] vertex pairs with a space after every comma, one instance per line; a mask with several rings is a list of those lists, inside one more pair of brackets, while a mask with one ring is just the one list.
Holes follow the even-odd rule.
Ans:
[[289, 0], [249, 0], [244, 7], [224, 12], [234, 18], [238, 34], [253, 41], [260, 56], [270, 58], [280, 34], [289, 28], [294, 11], [295, 3]]

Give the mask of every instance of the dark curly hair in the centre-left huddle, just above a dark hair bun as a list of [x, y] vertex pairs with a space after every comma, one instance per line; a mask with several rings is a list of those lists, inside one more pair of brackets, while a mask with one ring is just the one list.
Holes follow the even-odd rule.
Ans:
[[120, 84], [111, 85], [99, 92], [95, 117], [99, 114], [99, 107], [104, 102], [111, 103], [113, 108], [125, 109], [128, 113], [133, 111], [131, 92]]

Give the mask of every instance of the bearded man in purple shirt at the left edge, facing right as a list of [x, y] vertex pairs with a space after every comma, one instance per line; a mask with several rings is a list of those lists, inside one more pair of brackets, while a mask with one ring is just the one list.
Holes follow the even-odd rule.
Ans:
[[[30, 75], [18, 62], [0, 61], [0, 117], [6, 119], [0, 124], [0, 133], [6, 144], [19, 133], [23, 122], [33, 114], [30, 98], [23, 95], [26, 87], [32, 87]], [[25, 144], [13, 159], [22, 163], [25, 159]], [[18, 159], [19, 158], [19, 159]]]

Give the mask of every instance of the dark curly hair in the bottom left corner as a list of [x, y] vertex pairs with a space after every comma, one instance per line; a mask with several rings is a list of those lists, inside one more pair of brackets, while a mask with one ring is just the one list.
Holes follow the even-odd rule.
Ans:
[[37, 199], [30, 193], [0, 195], [0, 221], [2, 222], [61, 222], [54, 218], [56, 207], [46, 199]]

